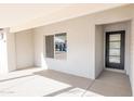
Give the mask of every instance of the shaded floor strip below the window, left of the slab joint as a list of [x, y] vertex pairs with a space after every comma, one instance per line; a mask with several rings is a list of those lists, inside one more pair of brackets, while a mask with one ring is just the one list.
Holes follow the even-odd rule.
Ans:
[[61, 72], [55, 72], [55, 71], [41, 71], [41, 72], [36, 72], [34, 73], [35, 75], [40, 75], [43, 77], [48, 77], [64, 84], [68, 84], [72, 87], [78, 87], [81, 89], [86, 89], [91, 84], [92, 84], [92, 79], [89, 78], [84, 78], [84, 77], [79, 77], [79, 76], [73, 76], [73, 75], [68, 75], [65, 73], [61, 73]]

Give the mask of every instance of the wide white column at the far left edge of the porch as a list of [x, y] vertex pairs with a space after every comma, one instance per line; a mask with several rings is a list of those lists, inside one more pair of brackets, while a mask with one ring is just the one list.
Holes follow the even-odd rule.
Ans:
[[15, 38], [9, 28], [0, 29], [0, 74], [6, 74], [16, 68]]

